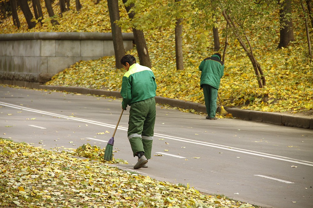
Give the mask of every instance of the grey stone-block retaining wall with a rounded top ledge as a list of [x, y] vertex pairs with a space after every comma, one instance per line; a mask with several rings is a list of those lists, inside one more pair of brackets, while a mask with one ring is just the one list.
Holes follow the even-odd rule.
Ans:
[[[126, 51], [132, 33], [123, 33]], [[114, 56], [111, 33], [32, 32], [0, 34], [0, 83], [44, 83], [80, 60]]]

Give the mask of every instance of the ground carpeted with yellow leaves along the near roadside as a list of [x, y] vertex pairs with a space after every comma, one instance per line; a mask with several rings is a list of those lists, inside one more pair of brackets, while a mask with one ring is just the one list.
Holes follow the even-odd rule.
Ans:
[[1, 207], [253, 207], [6, 139], [0, 139], [0, 157]]

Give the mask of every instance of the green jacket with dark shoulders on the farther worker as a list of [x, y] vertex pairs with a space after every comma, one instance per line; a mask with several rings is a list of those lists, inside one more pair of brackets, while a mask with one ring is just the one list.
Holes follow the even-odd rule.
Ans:
[[218, 89], [222, 76], [224, 75], [224, 63], [218, 55], [212, 55], [204, 59], [199, 65], [201, 71], [200, 87], [203, 84], [211, 85]]

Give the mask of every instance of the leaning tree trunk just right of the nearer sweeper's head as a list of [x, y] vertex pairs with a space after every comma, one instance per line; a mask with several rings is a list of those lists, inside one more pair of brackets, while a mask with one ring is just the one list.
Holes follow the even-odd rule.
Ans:
[[[123, 0], [124, 6], [126, 2], [127, 0]], [[134, 4], [131, 4], [127, 7], [125, 6], [126, 11], [128, 13], [128, 17], [130, 19], [132, 19], [135, 16], [133, 12], [129, 12], [131, 7], [133, 6]], [[132, 28], [132, 29], [134, 33], [134, 38], [135, 38], [135, 43], [136, 43], [136, 48], [137, 48], [137, 53], [138, 53], [140, 64], [151, 68], [151, 60], [150, 60], [150, 56], [149, 56], [149, 52], [148, 52], [148, 48], [146, 44], [145, 35], [143, 34], [143, 31], [141, 30], [137, 30], [136, 28]]]

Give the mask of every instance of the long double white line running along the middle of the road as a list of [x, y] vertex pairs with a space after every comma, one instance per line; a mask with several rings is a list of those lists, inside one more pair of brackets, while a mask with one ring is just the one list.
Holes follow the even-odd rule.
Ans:
[[[80, 118], [69, 117], [69, 116], [64, 116], [64, 115], [60, 115], [60, 114], [54, 114], [54, 113], [50, 113], [50, 112], [46, 112], [46, 111], [42, 111], [42, 110], [36, 110], [36, 109], [21, 107], [18, 105], [13, 105], [13, 104], [8, 104], [8, 103], [3, 103], [3, 102], [0, 102], [0, 104], [3, 106], [10, 107], [10, 108], [21, 109], [21, 110], [26, 110], [26, 111], [50, 115], [50, 116], [57, 116], [58, 118], [64, 118], [64, 119], [69, 119], [69, 120], [85, 122], [85, 123], [91, 123], [91, 124], [95, 124], [95, 125], [99, 125], [99, 126], [105, 126], [105, 127], [109, 127], [109, 128], [115, 128], [116, 127], [116, 125], [111, 125], [111, 124], [107, 124], [107, 123], [101, 123], [101, 122], [87, 120], [87, 119], [80, 119]], [[127, 128], [125, 128], [125, 127], [118, 127], [118, 129], [127, 131]], [[272, 158], [272, 159], [276, 159], [276, 160], [293, 162], [293, 163], [307, 165], [307, 166], [313, 166], [313, 162], [310, 162], [310, 161], [298, 160], [298, 159], [294, 159], [294, 158], [290, 158], [290, 157], [283, 157], [283, 156], [268, 154], [268, 153], [264, 153], [264, 152], [255, 152], [252, 150], [234, 148], [234, 147], [229, 147], [229, 146], [224, 146], [224, 145], [219, 145], [219, 144], [214, 144], [214, 143], [207, 143], [207, 142], [202, 142], [202, 141], [197, 141], [197, 140], [192, 140], [192, 139], [187, 139], [187, 138], [181, 138], [181, 137], [173, 137], [173, 136], [169, 136], [169, 135], [165, 135], [165, 134], [155, 133], [154, 136], [155, 137], [161, 137], [161, 138], [167, 138], [167, 139], [171, 139], [171, 140], [176, 140], [176, 141], [181, 141], [181, 142], [199, 144], [199, 145], [213, 147], [213, 148], [224, 149], [224, 150], [228, 150], [228, 151], [240, 152], [240, 153], [244, 153], [244, 154], [251, 154], [251, 155], [256, 155], [256, 156], [260, 156], [260, 157], [268, 157], [268, 158]]]

